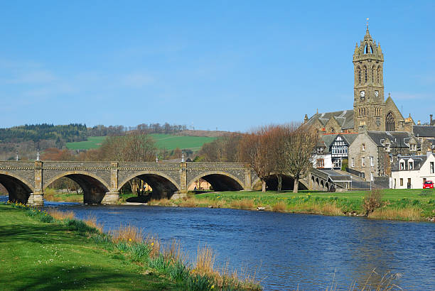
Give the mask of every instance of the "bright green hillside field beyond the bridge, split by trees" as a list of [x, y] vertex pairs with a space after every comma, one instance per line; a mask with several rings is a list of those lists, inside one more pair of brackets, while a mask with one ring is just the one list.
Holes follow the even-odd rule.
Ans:
[[[210, 143], [216, 138], [207, 136], [175, 136], [172, 134], [151, 133], [150, 136], [156, 141], [157, 148], [166, 148], [175, 150], [176, 148], [189, 148], [190, 150], [199, 150], [204, 143]], [[87, 141], [77, 143], [67, 143], [70, 150], [89, 150], [91, 148], [100, 148], [106, 136], [90, 136]]]

